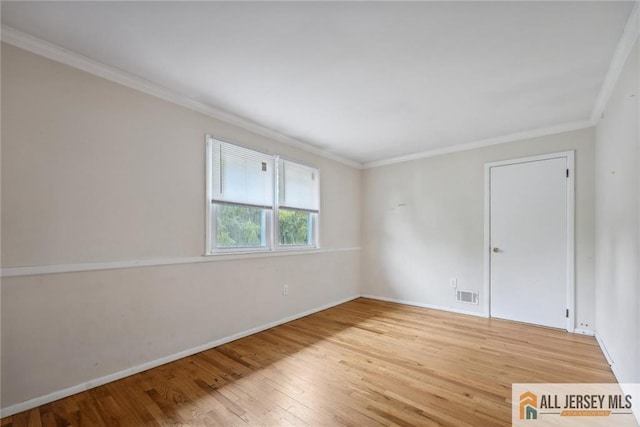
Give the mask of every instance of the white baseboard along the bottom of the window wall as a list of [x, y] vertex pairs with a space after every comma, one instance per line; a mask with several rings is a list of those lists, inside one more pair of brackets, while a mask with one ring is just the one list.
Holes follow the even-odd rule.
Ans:
[[7, 408], [0, 409], [0, 417], [8, 417], [19, 412], [27, 411], [29, 409], [36, 408], [41, 405], [45, 405], [47, 403], [53, 402], [58, 399], [62, 399], [65, 397], [72, 396], [76, 393], [81, 393], [83, 391], [101, 386], [103, 384], [107, 384], [113, 381], [120, 380], [122, 378], [126, 378], [128, 376], [146, 371], [148, 369], [155, 368], [160, 365], [164, 365], [165, 363], [173, 362], [184, 357], [188, 357], [194, 355], [196, 353], [200, 353], [205, 350], [212, 349], [214, 347], [218, 347], [220, 345], [229, 343], [231, 341], [238, 340], [240, 338], [247, 337], [249, 335], [256, 334], [258, 332], [265, 331], [267, 329], [271, 329], [275, 326], [282, 325], [283, 323], [291, 322], [296, 319], [300, 319], [301, 317], [309, 316], [313, 313], [317, 313], [322, 310], [326, 310], [331, 307], [335, 307], [340, 304], [344, 304], [351, 300], [359, 298], [359, 295], [353, 295], [347, 298], [342, 298], [338, 301], [331, 302], [329, 304], [325, 304], [320, 307], [313, 308], [311, 310], [303, 311], [302, 313], [294, 314], [292, 316], [284, 317], [280, 320], [276, 320], [275, 322], [270, 322], [261, 326], [257, 326], [255, 328], [247, 329], [242, 332], [238, 332], [237, 334], [229, 335], [228, 337], [220, 338], [215, 341], [208, 342], [206, 344], [199, 345], [197, 347], [190, 348], [188, 350], [180, 351], [178, 353], [174, 353], [172, 355], [161, 357], [160, 359], [152, 360], [150, 362], [143, 363], [141, 365], [133, 366], [131, 368], [123, 369], [122, 371], [115, 372], [113, 374], [105, 375], [100, 378], [96, 378], [91, 381], [86, 381], [81, 384], [77, 384], [72, 387], [65, 388], [64, 390], [54, 391], [53, 393], [49, 393], [44, 396], [36, 397], [35, 399], [28, 400], [26, 402], [17, 403], [15, 405], [11, 405]]

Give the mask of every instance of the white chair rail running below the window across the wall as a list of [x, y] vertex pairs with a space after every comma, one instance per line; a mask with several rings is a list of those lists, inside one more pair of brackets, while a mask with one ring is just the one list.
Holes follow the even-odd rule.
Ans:
[[7, 267], [0, 270], [0, 277], [35, 276], [41, 274], [75, 273], [80, 271], [119, 270], [123, 268], [153, 267], [158, 265], [197, 264], [202, 262], [232, 261], [252, 258], [268, 258], [297, 255], [317, 255], [338, 252], [359, 251], [360, 247], [336, 249], [295, 249], [290, 251], [269, 251], [251, 253], [218, 254], [212, 256], [142, 259], [131, 261], [95, 262], [86, 264], [34, 265], [27, 267]]

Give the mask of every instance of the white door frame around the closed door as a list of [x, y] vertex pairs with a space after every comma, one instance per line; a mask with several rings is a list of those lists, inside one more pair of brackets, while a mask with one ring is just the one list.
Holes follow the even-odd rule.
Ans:
[[565, 158], [567, 178], [567, 331], [575, 332], [575, 152], [543, 154], [484, 164], [484, 312], [491, 317], [491, 168]]

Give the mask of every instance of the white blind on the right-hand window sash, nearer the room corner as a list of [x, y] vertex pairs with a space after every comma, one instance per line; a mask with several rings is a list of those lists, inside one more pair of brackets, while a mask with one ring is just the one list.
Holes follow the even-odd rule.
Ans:
[[279, 204], [284, 209], [320, 211], [320, 176], [317, 169], [280, 159]]

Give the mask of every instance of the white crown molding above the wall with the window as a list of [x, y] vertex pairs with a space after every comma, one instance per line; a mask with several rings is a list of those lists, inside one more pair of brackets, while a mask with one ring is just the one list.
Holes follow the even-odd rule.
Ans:
[[205, 114], [209, 117], [213, 117], [226, 123], [233, 124], [250, 132], [254, 132], [258, 135], [274, 139], [283, 144], [299, 148], [306, 152], [313, 153], [330, 160], [335, 160], [356, 169], [362, 168], [361, 163], [355, 162], [351, 159], [347, 159], [337, 154], [330, 153], [325, 150], [321, 150], [312, 146], [311, 144], [297, 140], [295, 138], [282, 135], [265, 126], [252, 122], [251, 120], [248, 120], [244, 117], [240, 117], [238, 115], [215, 108], [209, 104], [196, 101], [177, 92], [164, 88], [149, 80], [145, 80], [134, 74], [130, 74], [126, 71], [122, 71], [120, 69], [95, 61], [89, 57], [80, 55], [79, 53], [39, 39], [7, 25], [2, 25], [1, 40], [20, 49], [35, 53], [36, 55], [40, 55], [53, 61], [68, 65], [70, 67], [77, 68], [79, 70], [96, 75], [98, 77], [102, 77], [123, 86], [127, 86], [148, 95], [164, 99], [165, 101], [169, 101], [181, 107], [197, 111], [198, 113]]

